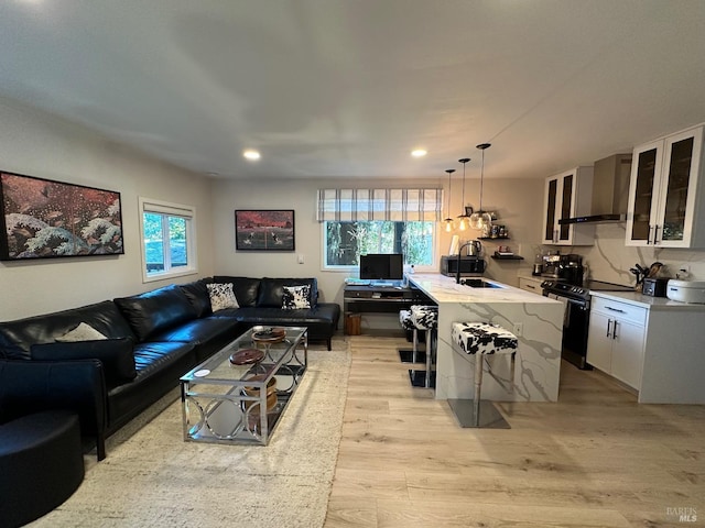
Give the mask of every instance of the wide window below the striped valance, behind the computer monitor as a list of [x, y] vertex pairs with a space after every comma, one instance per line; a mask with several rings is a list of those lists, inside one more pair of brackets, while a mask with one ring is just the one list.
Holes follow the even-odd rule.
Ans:
[[360, 255], [401, 253], [405, 265], [431, 268], [435, 223], [426, 221], [323, 222], [324, 268], [357, 267]]

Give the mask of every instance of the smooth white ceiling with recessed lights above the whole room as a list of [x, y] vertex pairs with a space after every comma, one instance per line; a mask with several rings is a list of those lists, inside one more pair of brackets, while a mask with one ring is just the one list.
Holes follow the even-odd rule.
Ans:
[[2, 0], [0, 96], [223, 178], [479, 177], [482, 142], [486, 177], [543, 177], [704, 122], [703, 28], [702, 0]]

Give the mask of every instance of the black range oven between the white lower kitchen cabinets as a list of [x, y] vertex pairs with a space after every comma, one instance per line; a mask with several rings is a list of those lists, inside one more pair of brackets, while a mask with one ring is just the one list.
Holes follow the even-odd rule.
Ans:
[[587, 363], [590, 290], [633, 292], [633, 287], [601, 280], [586, 280], [582, 286], [575, 286], [560, 279], [544, 280], [541, 287], [544, 297], [560, 300], [565, 307], [561, 356], [578, 369], [592, 370]]

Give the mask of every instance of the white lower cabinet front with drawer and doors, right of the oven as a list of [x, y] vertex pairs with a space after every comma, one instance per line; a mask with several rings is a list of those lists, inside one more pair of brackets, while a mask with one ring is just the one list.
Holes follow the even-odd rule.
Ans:
[[647, 309], [593, 297], [587, 362], [637, 391], [641, 387]]

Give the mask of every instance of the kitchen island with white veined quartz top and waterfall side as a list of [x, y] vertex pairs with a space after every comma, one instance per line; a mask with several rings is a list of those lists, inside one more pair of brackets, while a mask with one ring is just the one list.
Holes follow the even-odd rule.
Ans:
[[486, 356], [482, 399], [556, 402], [561, 374], [563, 305], [495, 280], [495, 287], [456, 284], [441, 274], [413, 274], [412, 286], [438, 305], [436, 399], [471, 399], [475, 356], [454, 351], [454, 322], [491, 322], [519, 340], [516, 358]]

